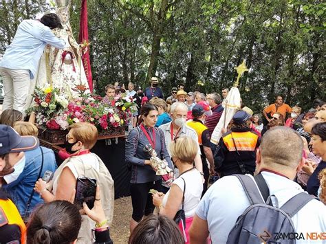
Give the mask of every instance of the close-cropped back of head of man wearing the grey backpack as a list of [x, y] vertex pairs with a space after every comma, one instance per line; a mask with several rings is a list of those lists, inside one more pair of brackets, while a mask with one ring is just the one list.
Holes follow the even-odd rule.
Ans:
[[260, 151], [265, 166], [276, 170], [296, 170], [302, 158], [303, 141], [292, 129], [276, 126], [263, 135]]

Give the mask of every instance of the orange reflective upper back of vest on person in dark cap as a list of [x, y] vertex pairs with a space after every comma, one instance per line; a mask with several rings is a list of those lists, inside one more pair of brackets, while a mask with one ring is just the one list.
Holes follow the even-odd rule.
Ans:
[[235, 146], [237, 146], [238, 151], [255, 151], [258, 139], [259, 136], [251, 131], [232, 132], [223, 137], [224, 144], [226, 144], [229, 152], [235, 151]]

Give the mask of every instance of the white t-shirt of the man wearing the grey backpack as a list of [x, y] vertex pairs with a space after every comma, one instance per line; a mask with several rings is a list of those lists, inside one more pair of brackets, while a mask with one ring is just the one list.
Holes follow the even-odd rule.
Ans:
[[[261, 173], [268, 184], [270, 195], [275, 195], [279, 208], [290, 198], [303, 192], [301, 186], [286, 177], [263, 171]], [[274, 205], [274, 202], [273, 202]], [[235, 176], [226, 176], [210, 186], [200, 201], [196, 214], [208, 223], [208, 230], [213, 243], [226, 243], [228, 234], [237, 218], [250, 206], [243, 187]], [[326, 232], [326, 206], [317, 200], [309, 201], [294, 217], [297, 233]], [[296, 243], [323, 243], [320, 239], [296, 240]]]

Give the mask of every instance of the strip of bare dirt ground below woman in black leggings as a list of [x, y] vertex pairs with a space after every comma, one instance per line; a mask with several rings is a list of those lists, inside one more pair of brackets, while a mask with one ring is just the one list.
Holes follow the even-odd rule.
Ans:
[[128, 243], [131, 212], [131, 197], [123, 197], [114, 201], [113, 222], [110, 227], [110, 234], [113, 243]]

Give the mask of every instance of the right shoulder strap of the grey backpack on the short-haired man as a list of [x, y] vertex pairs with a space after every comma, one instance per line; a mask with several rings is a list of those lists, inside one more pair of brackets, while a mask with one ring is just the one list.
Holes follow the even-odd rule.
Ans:
[[300, 192], [299, 194], [292, 197], [289, 201], [284, 203], [281, 210], [289, 214], [292, 218], [301, 208], [303, 208], [309, 201], [316, 199], [316, 197], [307, 194], [306, 192]]

